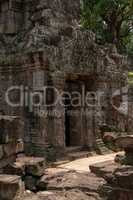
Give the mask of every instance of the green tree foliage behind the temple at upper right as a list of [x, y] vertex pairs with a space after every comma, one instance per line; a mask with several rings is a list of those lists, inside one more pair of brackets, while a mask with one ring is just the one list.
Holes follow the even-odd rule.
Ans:
[[133, 52], [133, 0], [82, 0], [81, 24], [98, 42]]

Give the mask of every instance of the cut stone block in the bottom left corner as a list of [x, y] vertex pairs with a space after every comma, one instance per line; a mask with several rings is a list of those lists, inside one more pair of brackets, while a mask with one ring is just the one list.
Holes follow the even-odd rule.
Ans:
[[0, 200], [19, 200], [23, 198], [24, 184], [21, 177], [0, 175]]

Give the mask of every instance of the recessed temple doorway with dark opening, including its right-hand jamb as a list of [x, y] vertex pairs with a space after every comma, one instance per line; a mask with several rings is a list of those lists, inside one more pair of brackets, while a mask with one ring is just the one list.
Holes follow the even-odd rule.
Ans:
[[[71, 94], [71, 98], [65, 96], [65, 146], [79, 147], [79, 146], [93, 146], [95, 137], [95, 123], [93, 119], [94, 110], [92, 107], [81, 104], [73, 106], [78, 102], [75, 94], [80, 94], [81, 98], [87, 92], [95, 91], [96, 81], [90, 76], [78, 76], [77, 79], [67, 79], [65, 84], [65, 91]], [[76, 95], [77, 96], [77, 95]], [[71, 102], [72, 99], [74, 101]], [[70, 103], [71, 102], [71, 103]], [[76, 104], [76, 105], [77, 105]], [[91, 114], [88, 116], [86, 110]]]

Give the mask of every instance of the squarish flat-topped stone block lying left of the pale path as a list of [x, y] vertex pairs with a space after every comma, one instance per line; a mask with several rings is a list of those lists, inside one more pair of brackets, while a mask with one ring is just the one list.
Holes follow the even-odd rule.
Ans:
[[18, 163], [25, 165], [25, 173], [32, 176], [41, 177], [46, 168], [46, 161], [39, 157], [20, 157], [16, 160]]

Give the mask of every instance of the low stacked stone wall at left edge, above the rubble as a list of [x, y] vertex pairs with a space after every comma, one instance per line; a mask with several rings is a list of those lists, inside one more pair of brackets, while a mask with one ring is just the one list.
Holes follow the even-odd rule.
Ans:
[[[0, 171], [24, 151], [22, 122], [15, 116], [0, 116]], [[2, 172], [2, 171], [1, 171]]]

